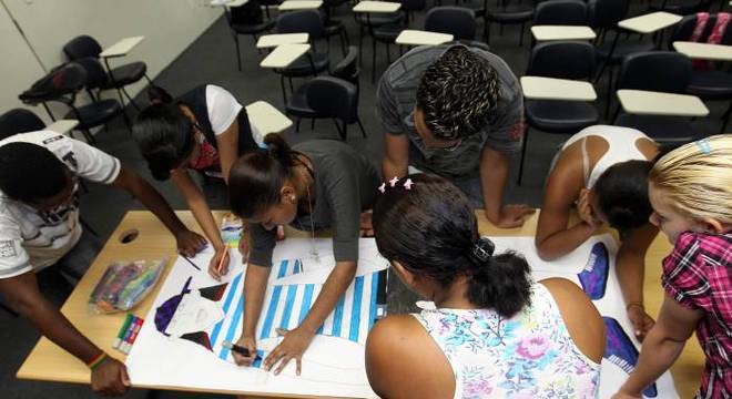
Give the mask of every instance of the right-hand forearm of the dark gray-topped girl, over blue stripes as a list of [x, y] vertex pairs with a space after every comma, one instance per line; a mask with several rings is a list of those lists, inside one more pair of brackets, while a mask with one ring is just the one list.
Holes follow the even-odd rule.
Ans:
[[315, 334], [356, 276], [355, 262], [337, 262], [299, 327]]

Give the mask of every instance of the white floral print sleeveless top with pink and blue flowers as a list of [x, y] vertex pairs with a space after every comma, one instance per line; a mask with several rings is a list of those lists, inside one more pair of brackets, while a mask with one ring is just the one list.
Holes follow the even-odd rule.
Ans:
[[413, 315], [443, 349], [455, 398], [597, 398], [600, 365], [567, 331], [549, 290], [506, 319], [491, 309], [435, 309]]

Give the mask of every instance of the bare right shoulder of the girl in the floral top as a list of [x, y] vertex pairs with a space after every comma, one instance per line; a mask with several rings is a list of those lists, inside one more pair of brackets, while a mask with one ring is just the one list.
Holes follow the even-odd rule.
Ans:
[[577, 347], [596, 362], [604, 351], [604, 323], [590, 298], [575, 283], [566, 278], [539, 282], [553, 297], [570, 337]]

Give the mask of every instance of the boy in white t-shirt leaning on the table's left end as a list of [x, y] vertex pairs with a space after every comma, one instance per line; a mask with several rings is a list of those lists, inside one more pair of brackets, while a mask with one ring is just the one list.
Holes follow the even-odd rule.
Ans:
[[93, 258], [94, 245], [79, 224], [80, 178], [130, 192], [171, 231], [181, 253], [193, 256], [206, 242], [148, 182], [100, 150], [50, 131], [0, 141], [0, 294], [41, 334], [90, 366], [95, 392], [121, 395], [130, 385], [124, 364], [77, 330], [35, 279], [35, 272], [55, 265], [78, 280]]

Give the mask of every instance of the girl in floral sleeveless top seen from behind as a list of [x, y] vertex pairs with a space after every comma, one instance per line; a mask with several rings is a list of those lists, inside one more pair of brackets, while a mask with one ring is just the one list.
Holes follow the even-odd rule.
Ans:
[[379, 397], [597, 397], [604, 326], [578, 286], [535, 284], [523, 257], [495, 254], [468, 198], [443, 177], [410, 175], [379, 191], [376, 245], [435, 304], [372, 329], [366, 372]]

